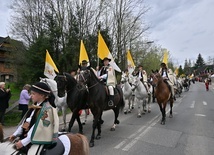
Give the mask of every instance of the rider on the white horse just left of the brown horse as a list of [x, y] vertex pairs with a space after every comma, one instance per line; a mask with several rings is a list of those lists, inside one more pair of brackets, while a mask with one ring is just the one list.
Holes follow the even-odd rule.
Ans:
[[146, 88], [146, 91], [148, 92], [148, 94], [150, 95], [151, 92], [149, 91], [149, 86], [148, 86], [148, 80], [147, 80], [147, 73], [145, 70], [143, 70], [143, 66], [139, 65], [138, 66], [138, 71], [135, 73], [135, 75], [140, 78], [140, 81], [143, 83], [143, 85]]

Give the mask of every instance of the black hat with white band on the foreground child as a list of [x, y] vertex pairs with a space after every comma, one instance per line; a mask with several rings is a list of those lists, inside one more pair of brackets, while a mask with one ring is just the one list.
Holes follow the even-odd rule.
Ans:
[[31, 86], [31, 90], [43, 95], [49, 95], [51, 93], [50, 88], [44, 82], [37, 82]]

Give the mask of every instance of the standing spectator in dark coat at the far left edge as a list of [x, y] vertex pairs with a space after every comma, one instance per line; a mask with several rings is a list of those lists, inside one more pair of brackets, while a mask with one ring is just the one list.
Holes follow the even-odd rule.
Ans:
[[0, 123], [4, 125], [4, 115], [9, 107], [9, 99], [11, 97], [10, 89], [5, 89], [5, 83], [0, 82]]

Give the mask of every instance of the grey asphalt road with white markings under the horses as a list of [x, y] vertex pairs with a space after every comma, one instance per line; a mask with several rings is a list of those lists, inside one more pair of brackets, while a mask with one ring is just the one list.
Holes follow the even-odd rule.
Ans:
[[[173, 118], [167, 114], [166, 124], [161, 125], [161, 114], [157, 103], [152, 103], [151, 113], [137, 118], [137, 109], [130, 114], [119, 115], [116, 131], [113, 111], [103, 114], [102, 134], [90, 148], [91, 155], [213, 155], [214, 154], [214, 87], [205, 90], [204, 83], [192, 84], [188, 92], [177, 98], [173, 107]], [[167, 106], [169, 109], [169, 105]], [[68, 119], [71, 115], [68, 115]], [[90, 140], [92, 132], [90, 114], [84, 134]], [[13, 128], [5, 129], [5, 134]], [[78, 132], [77, 124], [72, 132]]]

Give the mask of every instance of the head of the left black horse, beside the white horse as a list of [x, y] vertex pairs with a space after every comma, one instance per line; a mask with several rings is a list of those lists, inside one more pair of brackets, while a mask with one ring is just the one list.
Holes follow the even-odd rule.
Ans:
[[67, 90], [67, 78], [65, 75], [57, 75], [55, 77], [57, 83], [58, 96], [64, 97]]

